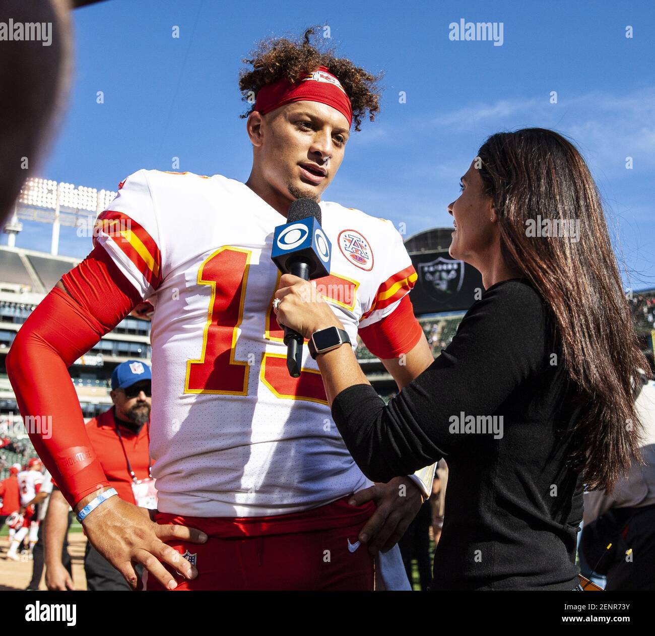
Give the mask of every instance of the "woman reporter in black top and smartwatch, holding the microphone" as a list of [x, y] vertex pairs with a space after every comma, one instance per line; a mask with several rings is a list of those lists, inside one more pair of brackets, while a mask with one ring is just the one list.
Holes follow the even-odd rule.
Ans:
[[[327, 398], [374, 481], [446, 458], [432, 589], [574, 589], [582, 485], [612, 489], [639, 457], [633, 378], [646, 360], [595, 183], [569, 141], [495, 134], [461, 187], [450, 253], [479, 269], [481, 297], [388, 405], [350, 347], [318, 354]], [[310, 291], [282, 276], [278, 322], [308, 338], [341, 327]]]

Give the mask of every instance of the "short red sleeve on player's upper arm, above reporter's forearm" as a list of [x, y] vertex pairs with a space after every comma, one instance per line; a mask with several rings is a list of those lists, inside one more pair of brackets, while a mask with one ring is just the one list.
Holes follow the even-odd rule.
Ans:
[[398, 358], [400, 354], [411, 351], [422, 333], [407, 293], [394, 312], [359, 330], [360, 338], [368, 350], [381, 360]]

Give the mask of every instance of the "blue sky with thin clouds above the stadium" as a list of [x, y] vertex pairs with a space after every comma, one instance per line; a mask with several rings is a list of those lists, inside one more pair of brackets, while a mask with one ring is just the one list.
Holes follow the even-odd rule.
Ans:
[[[502, 22], [502, 46], [449, 24]], [[110, 0], [75, 11], [69, 107], [39, 175], [115, 189], [139, 168], [245, 181], [252, 151], [241, 59], [255, 41], [327, 24], [342, 56], [385, 71], [381, 113], [348, 141], [326, 200], [405, 224], [451, 225], [446, 206], [484, 138], [554, 128], [582, 150], [607, 204], [626, 286], [655, 286], [655, 3]], [[626, 38], [626, 26], [633, 37]], [[180, 37], [172, 37], [179, 26]], [[102, 90], [104, 103], [96, 103]], [[404, 91], [406, 103], [399, 103]], [[552, 91], [557, 103], [550, 103]], [[633, 168], [626, 169], [626, 157]], [[7, 236], [2, 235], [2, 242]], [[50, 226], [16, 245], [48, 251]], [[90, 238], [62, 228], [60, 253]]]

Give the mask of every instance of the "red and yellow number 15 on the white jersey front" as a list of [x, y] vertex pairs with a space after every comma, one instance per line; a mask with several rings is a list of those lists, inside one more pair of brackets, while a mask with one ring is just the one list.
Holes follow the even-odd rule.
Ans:
[[[208, 256], [198, 269], [198, 284], [210, 285], [212, 295], [200, 358], [187, 360], [185, 393], [248, 395], [251, 365], [247, 361], [236, 360], [234, 352], [238, 328], [243, 320], [251, 255], [250, 250], [224, 246]], [[275, 290], [279, 280], [278, 273]], [[359, 286], [357, 281], [331, 274], [317, 279], [316, 284], [317, 287], [320, 285], [319, 291], [333, 302], [354, 309], [355, 293]], [[264, 337], [282, 342], [284, 332], [272, 310], [275, 290], [272, 291], [267, 309]], [[333, 290], [338, 290], [339, 294], [331, 293]], [[264, 352], [259, 377], [272, 394], [282, 400], [327, 404], [320, 373], [315, 369], [301, 369], [299, 377], [290, 377], [284, 354]]]

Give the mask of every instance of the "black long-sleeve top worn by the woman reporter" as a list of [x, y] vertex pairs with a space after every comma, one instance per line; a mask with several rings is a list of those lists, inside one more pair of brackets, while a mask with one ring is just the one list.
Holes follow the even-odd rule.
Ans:
[[553, 325], [527, 280], [499, 282], [388, 405], [369, 384], [333, 402], [348, 450], [373, 481], [445, 457], [431, 589], [576, 586], [582, 479], [567, 461], [567, 432], [580, 411]]

